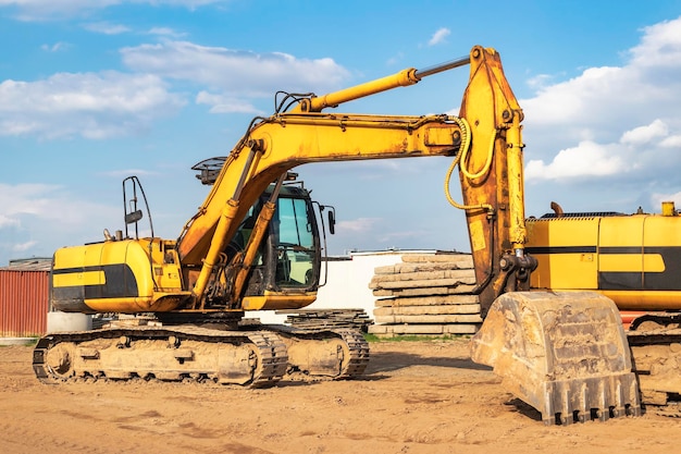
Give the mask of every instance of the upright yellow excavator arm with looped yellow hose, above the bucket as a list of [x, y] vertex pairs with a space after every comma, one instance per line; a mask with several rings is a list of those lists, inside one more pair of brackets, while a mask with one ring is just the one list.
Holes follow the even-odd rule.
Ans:
[[522, 110], [497, 52], [473, 48], [470, 64], [460, 116], [471, 146], [458, 162], [484, 318], [499, 295], [530, 289], [536, 261], [524, 254]]

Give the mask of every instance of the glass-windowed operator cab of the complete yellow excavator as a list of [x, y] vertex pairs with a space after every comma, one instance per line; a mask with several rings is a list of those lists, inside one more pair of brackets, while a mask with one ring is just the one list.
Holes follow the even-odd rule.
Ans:
[[[211, 158], [191, 169], [202, 184], [213, 185], [225, 161], [225, 157]], [[206, 295], [208, 306], [226, 303], [234, 307], [235, 302], [246, 298], [247, 310], [259, 310], [273, 308], [271, 305], [298, 308], [314, 300], [325, 249], [322, 213], [329, 210], [331, 231], [335, 210], [313, 201], [297, 176], [286, 172], [244, 214], [213, 270]]]

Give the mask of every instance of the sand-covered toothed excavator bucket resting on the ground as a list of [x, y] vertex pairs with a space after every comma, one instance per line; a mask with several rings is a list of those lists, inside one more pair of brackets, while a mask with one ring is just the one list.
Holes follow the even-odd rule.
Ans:
[[471, 358], [492, 366], [545, 425], [641, 414], [619, 311], [597, 293], [502, 295], [471, 341]]

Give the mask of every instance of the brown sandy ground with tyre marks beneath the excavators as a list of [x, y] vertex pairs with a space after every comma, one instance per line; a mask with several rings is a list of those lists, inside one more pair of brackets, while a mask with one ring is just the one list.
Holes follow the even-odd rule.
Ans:
[[0, 347], [0, 452], [661, 453], [681, 419], [567, 427], [506, 393], [465, 341], [372, 343], [366, 378], [265, 390], [196, 383], [46, 385], [32, 347]]

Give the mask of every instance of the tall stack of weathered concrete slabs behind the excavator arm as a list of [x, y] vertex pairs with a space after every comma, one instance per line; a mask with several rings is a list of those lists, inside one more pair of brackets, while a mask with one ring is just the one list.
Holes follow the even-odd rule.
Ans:
[[471, 292], [475, 274], [470, 254], [407, 255], [401, 262], [377, 267], [369, 287], [376, 297], [379, 336], [400, 334], [473, 334], [482, 319], [480, 303]]

